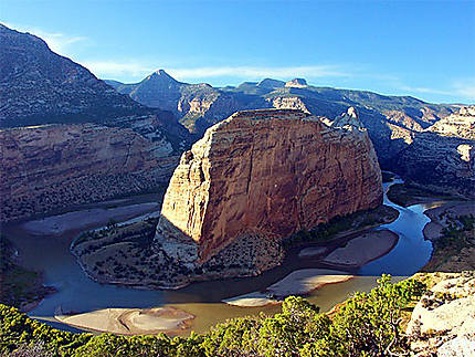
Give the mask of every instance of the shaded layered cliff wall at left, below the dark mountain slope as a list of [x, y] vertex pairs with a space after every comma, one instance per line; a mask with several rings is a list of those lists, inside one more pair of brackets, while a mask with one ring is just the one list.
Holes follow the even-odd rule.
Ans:
[[142, 135], [94, 124], [1, 130], [0, 221], [166, 185], [177, 151], [152, 123], [135, 124]]

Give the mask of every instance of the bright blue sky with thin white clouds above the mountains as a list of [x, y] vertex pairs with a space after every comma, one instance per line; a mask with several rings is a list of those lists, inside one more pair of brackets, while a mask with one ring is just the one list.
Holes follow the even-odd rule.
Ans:
[[473, 1], [0, 1], [0, 22], [101, 78], [264, 77], [475, 103]]

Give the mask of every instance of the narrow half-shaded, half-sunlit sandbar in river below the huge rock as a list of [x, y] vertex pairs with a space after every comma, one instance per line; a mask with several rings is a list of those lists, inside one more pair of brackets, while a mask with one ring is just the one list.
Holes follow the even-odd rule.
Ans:
[[327, 269], [303, 269], [292, 272], [264, 292], [254, 292], [224, 300], [229, 305], [257, 307], [276, 304], [289, 295], [304, 295], [326, 284], [346, 282], [353, 277], [346, 272]]

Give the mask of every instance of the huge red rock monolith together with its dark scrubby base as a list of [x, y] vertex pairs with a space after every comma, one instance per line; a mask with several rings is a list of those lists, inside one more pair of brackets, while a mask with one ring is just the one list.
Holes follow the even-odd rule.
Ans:
[[176, 288], [260, 274], [282, 263], [285, 239], [381, 203], [381, 171], [353, 108], [332, 120], [238, 112], [182, 154], [155, 237], [144, 222], [128, 239], [86, 233], [72, 251], [98, 282]]

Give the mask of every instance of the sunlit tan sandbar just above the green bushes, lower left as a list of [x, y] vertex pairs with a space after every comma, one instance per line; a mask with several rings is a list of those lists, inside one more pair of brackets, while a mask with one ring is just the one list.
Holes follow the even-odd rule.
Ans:
[[73, 327], [122, 335], [178, 333], [188, 328], [194, 318], [193, 315], [175, 307], [104, 308], [54, 317]]

